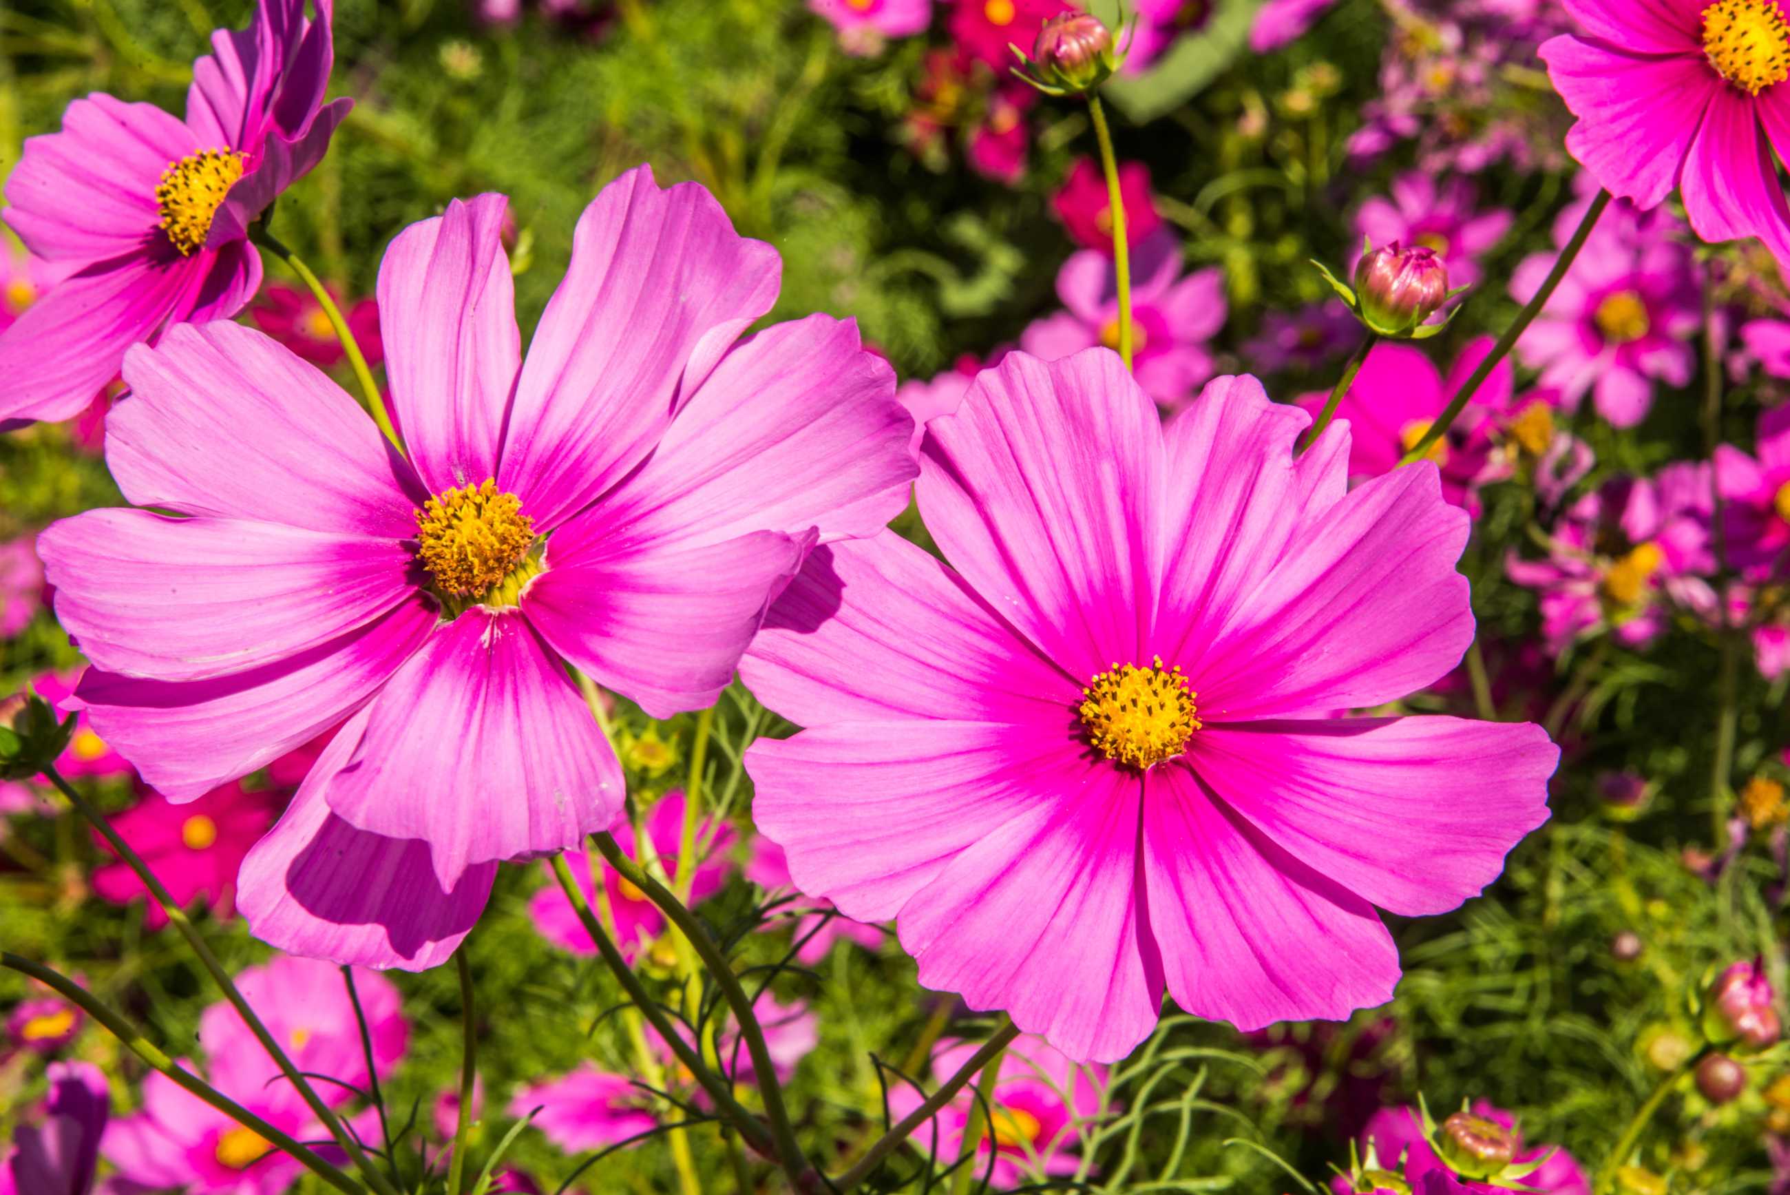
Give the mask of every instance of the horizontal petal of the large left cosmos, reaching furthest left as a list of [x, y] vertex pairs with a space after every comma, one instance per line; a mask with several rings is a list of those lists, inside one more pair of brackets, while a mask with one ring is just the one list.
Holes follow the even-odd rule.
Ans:
[[200, 681], [277, 663], [415, 591], [410, 548], [277, 523], [100, 509], [38, 537], [55, 616], [107, 672]]

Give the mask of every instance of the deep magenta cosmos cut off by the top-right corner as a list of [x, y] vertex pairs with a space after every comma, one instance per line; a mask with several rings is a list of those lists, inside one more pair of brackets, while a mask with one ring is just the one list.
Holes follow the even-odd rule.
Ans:
[[1790, 23], [1777, 0], [1564, 0], [1579, 34], [1541, 47], [1579, 122], [1566, 149], [1654, 208], [1677, 188], [1704, 240], [1758, 236], [1790, 263]]

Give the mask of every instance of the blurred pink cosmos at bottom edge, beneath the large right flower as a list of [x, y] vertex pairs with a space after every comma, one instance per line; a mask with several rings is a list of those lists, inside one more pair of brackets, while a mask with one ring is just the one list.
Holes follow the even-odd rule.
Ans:
[[[933, 1050], [933, 1075], [958, 1071], [977, 1043], [940, 1043]], [[1076, 1066], [1042, 1037], [1024, 1034], [1013, 1039], [1001, 1059], [990, 1100], [992, 1132], [984, 1134], [972, 1168], [977, 1177], [988, 1174], [988, 1156], [993, 1154], [993, 1186], [1020, 1186], [1026, 1181], [1044, 1181], [1051, 1175], [1072, 1175], [1081, 1166], [1076, 1147], [1087, 1125], [1101, 1111], [1101, 1088], [1106, 1084], [1104, 1066]], [[890, 1088], [890, 1113], [906, 1116], [920, 1107], [924, 1096], [908, 1084]], [[958, 1093], [931, 1123], [922, 1125], [913, 1141], [936, 1157], [954, 1159], [963, 1150], [963, 1131], [968, 1125], [976, 1095], [968, 1088]], [[934, 1147], [936, 1129], [936, 1147]]]

